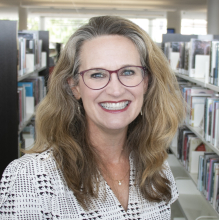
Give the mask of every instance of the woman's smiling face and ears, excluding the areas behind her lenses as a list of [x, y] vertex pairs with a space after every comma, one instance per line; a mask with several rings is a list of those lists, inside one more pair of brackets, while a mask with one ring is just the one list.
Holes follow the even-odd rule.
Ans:
[[[79, 72], [92, 68], [117, 70], [127, 65], [141, 66], [140, 55], [132, 41], [117, 35], [86, 41], [81, 49], [80, 60]], [[148, 77], [145, 77], [138, 86], [126, 87], [119, 82], [116, 73], [112, 73], [105, 88], [92, 90], [80, 76], [73, 93], [83, 101], [90, 129], [123, 130], [140, 113], [147, 85]], [[115, 109], [114, 103], [124, 104], [124, 108]], [[129, 103], [128, 106], [125, 106], [126, 103]]]

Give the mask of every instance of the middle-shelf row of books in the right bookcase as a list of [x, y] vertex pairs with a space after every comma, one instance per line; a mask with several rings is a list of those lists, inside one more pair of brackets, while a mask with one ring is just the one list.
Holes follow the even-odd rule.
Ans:
[[185, 124], [199, 127], [206, 141], [219, 148], [219, 96], [192, 83], [179, 81], [187, 103]]

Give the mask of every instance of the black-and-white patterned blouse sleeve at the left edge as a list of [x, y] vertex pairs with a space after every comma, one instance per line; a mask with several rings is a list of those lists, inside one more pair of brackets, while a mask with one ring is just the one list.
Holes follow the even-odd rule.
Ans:
[[0, 219], [43, 220], [41, 210], [27, 164], [11, 162], [0, 181]]

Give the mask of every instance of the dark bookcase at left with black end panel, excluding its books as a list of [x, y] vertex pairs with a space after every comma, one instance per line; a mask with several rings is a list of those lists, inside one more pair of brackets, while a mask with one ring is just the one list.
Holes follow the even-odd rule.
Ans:
[[0, 20], [0, 175], [6, 166], [14, 159], [18, 158], [18, 134], [24, 126], [31, 120], [34, 114], [27, 117], [22, 128], [18, 127], [18, 94], [17, 83], [30, 76], [39, 75], [45, 77], [45, 82], [49, 76], [49, 33], [39, 31], [39, 39], [42, 39], [42, 50], [47, 53], [47, 65], [34, 72], [17, 77], [18, 47], [17, 47], [17, 22]]

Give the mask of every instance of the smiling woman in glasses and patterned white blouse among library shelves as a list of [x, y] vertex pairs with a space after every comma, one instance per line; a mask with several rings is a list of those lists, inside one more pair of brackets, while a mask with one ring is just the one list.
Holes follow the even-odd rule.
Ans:
[[166, 149], [183, 118], [160, 49], [120, 17], [69, 39], [36, 114], [36, 143], [5, 170], [3, 219], [170, 219]]

